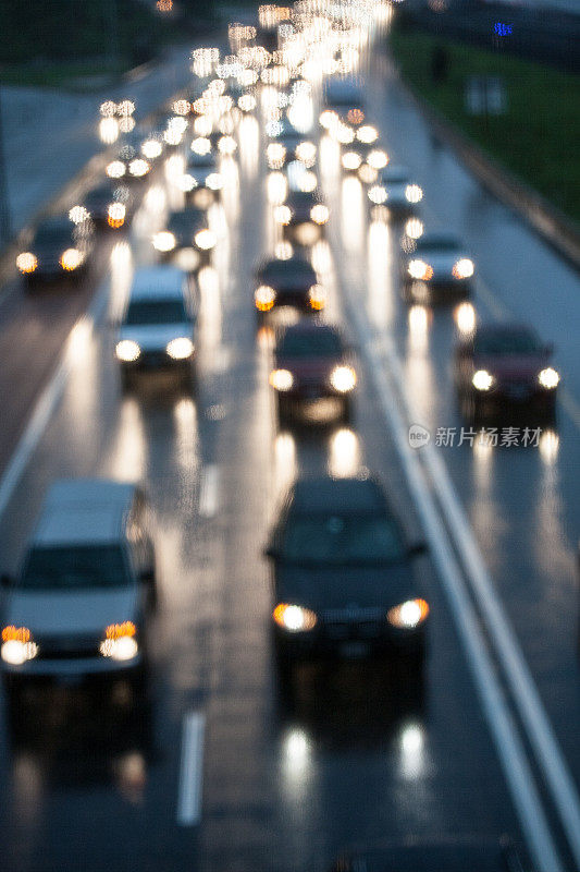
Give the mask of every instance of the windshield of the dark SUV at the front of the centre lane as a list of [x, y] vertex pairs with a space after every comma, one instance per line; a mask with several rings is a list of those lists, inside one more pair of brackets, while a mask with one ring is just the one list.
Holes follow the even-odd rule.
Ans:
[[282, 546], [296, 564], [392, 564], [404, 557], [395, 522], [377, 514], [314, 514], [291, 519]]

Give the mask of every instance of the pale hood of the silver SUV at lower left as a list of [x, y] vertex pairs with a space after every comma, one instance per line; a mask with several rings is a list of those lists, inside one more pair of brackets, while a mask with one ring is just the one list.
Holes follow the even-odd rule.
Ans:
[[102, 633], [110, 623], [135, 620], [136, 585], [107, 591], [21, 591], [9, 596], [4, 622], [27, 627], [33, 638], [67, 633]]

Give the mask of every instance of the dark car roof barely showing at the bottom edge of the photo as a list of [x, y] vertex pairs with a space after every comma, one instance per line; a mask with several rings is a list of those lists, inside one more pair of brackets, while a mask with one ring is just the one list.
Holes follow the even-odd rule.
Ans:
[[508, 838], [383, 843], [344, 851], [331, 872], [531, 872]]

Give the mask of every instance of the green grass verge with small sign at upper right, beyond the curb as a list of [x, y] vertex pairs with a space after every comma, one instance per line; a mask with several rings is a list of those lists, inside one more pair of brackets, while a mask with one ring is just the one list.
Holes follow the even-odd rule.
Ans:
[[[580, 222], [580, 76], [407, 28], [395, 27], [390, 43], [403, 77], [416, 93], [514, 175]], [[431, 74], [437, 46], [448, 57], [441, 84]], [[504, 80], [503, 116], [485, 119], [466, 110], [466, 80], [485, 74]]]

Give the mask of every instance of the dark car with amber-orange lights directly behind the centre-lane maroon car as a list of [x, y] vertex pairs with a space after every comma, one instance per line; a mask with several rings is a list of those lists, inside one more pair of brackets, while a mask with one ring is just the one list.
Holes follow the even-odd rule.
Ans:
[[318, 283], [313, 267], [299, 255], [286, 259], [272, 257], [256, 270], [254, 303], [259, 322], [282, 306], [316, 314], [324, 308], [325, 302], [324, 289]]

